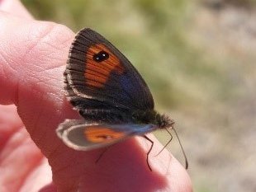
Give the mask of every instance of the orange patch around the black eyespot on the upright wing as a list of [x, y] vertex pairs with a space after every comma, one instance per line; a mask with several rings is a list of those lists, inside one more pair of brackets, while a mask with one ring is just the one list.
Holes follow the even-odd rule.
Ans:
[[[98, 54], [100, 51], [107, 52], [109, 54], [108, 59], [102, 62], [94, 61], [93, 55]], [[86, 83], [92, 87], [104, 87], [113, 71], [118, 74], [124, 72], [120, 60], [104, 44], [92, 45], [86, 53], [86, 61], [84, 77]]]

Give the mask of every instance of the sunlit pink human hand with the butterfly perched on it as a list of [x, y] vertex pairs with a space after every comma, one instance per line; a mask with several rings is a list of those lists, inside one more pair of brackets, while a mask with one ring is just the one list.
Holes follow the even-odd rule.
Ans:
[[55, 129], [80, 118], [64, 97], [73, 31], [35, 21], [17, 0], [0, 1], [0, 29], [0, 191], [192, 191], [175, 157], [167, 150], [154, 157], [163, 145], [153, 134], [153, 171], [142, 137], [117, 143], [97, 163], [103, 149], [66, 147]]

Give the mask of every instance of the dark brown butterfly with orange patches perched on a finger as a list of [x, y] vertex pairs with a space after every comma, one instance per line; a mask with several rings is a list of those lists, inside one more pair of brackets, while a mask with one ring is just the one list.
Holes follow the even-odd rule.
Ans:
[[83, 117], [66, 119], [56, 129], [69, 148], [90, 151], [141, 135], [152, 143], [150, 152], [153, 142], [145, 134], [174, 123], [154, 110], [149, 87], [130, 61], [94, 30], [75, 36], [64, 84], [68, 101]]

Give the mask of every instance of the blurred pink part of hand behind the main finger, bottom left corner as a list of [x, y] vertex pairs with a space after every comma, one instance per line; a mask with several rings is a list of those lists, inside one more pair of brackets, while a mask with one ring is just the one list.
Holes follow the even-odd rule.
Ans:
[[[50, 183], [50, 169], [42, 158], [17, 115], [17, 107], [0, 105], [0, 191], [38, 191]], [[35, 182], [37, 185], [31, 186]]]

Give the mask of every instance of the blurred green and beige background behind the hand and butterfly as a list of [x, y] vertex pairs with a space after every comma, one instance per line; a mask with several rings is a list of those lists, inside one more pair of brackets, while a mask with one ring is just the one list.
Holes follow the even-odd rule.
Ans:
[[[256, 191], [255, 0], [22, 2], [36, 19], [97, 30], [134, 63], [176, 121], [194, 191]], [[169, 148], [184, 162], [177, 139]]]

